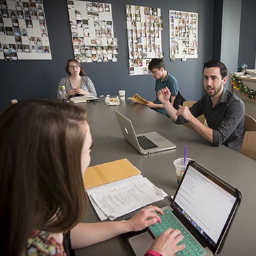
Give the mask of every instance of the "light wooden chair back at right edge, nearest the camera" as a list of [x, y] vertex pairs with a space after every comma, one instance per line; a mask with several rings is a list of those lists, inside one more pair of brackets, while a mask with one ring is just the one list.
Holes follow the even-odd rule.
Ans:
[[246, 131], [241, 147], [241, 153], [256, 160], [256, 131]]

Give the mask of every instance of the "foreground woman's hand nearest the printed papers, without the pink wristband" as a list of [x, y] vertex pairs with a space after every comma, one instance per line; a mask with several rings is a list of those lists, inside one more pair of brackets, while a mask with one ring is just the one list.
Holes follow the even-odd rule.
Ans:
[[134, 217], [131, 217], [131, 219], [127, 220], [131, 227], [131, 231], [141, 231], [151, 224], [161, 222], [157, 213], [160, 213], [161, 215], [164, 214], [163, 211], [157, 206], [151, 205], [142, 208], [140, 211], [138, 211], [138, 213], [136, 213], [136, 215], [134, 215]]

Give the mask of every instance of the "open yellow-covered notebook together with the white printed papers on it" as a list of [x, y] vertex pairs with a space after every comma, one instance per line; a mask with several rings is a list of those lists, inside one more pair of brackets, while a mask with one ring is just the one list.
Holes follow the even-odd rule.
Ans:
[[[99, 164], [88, 169], [84, 176], [85, 189], [100, 220], [115, 220], [116, 217], [167, 196], [162, 189], [158, 189], [143, 177], [127, 159]], [[89, 184], [87, 180], [92, 176], [94, 182]], [[100, 183], [102, 185], [97, 186]]]

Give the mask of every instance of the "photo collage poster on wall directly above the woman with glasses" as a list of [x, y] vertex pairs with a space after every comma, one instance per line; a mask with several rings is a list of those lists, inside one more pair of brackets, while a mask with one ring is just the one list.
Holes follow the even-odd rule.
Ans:
[[67, 1], [74, 57], [80, 62], [117, 61], [111, 4]]

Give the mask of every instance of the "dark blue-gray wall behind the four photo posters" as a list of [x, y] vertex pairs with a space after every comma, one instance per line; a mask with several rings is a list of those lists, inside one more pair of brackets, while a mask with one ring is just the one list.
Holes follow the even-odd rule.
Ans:
[[[127, 96], [138, 93], [149, 100], [155, 98], [153, 91], [155, 83], [151, 76], [129, 76], [125, 20], [125, 4], [129, 3], [131, 5], [161, 8], [164, 21], [162, 49], [164, 51], [166, 68], [178, 79], [180, 91], [187, 100], [197, 100], [202, 96], [204, 92], [202, 86], [202, 65], [204, 61], [208, 61], [215, 56], [216, 47], [220, 49], [220, 42], [217, 40], [218, 36], [216, 36], [215, 41], [216, 33], [213, 33], [213, 24], [215, 25], [215, 32], [221, 30], [220, 25], [214, 22], [216, 20], [215, 12], [220, 11], [215, 2], [220, 3], [221, 6], [221, 0], [106, 0], [102, 2], [111, 3], [112, 6], [114, 34], [118, 38], [118, 62], [82, 63], [85, 72], [92, 78], [98, 95], [115, 95], [118, 89], [122, 88], [127, 90]], [[0, 61], [0, 111], [10, 105], [12, 98], [17, 98], [18, 100], [27, 98], [56, 98], [58, 81], [61, 77], [66, 76], [65, 62], [67, 58], [73, 56], [67, 3], [65, 0], [44, 0], [43, 3], [52, 60]], [[248, 9], [250, 10], [250, 8]], [[174, 62], [169, 61], [168, 10], [198, 12], [198, 58], [187, 59], [186, 62], [182, 62], [179, 59], [176, 59]], [[220, 18], [217, 19], [219, 20]], [[255, 18], [253, 17], [253, 19]], [[250, 31], [253, 32], [254, 28], [255, 25]], [[255, 55], [253, 60], [255, 60]]]

